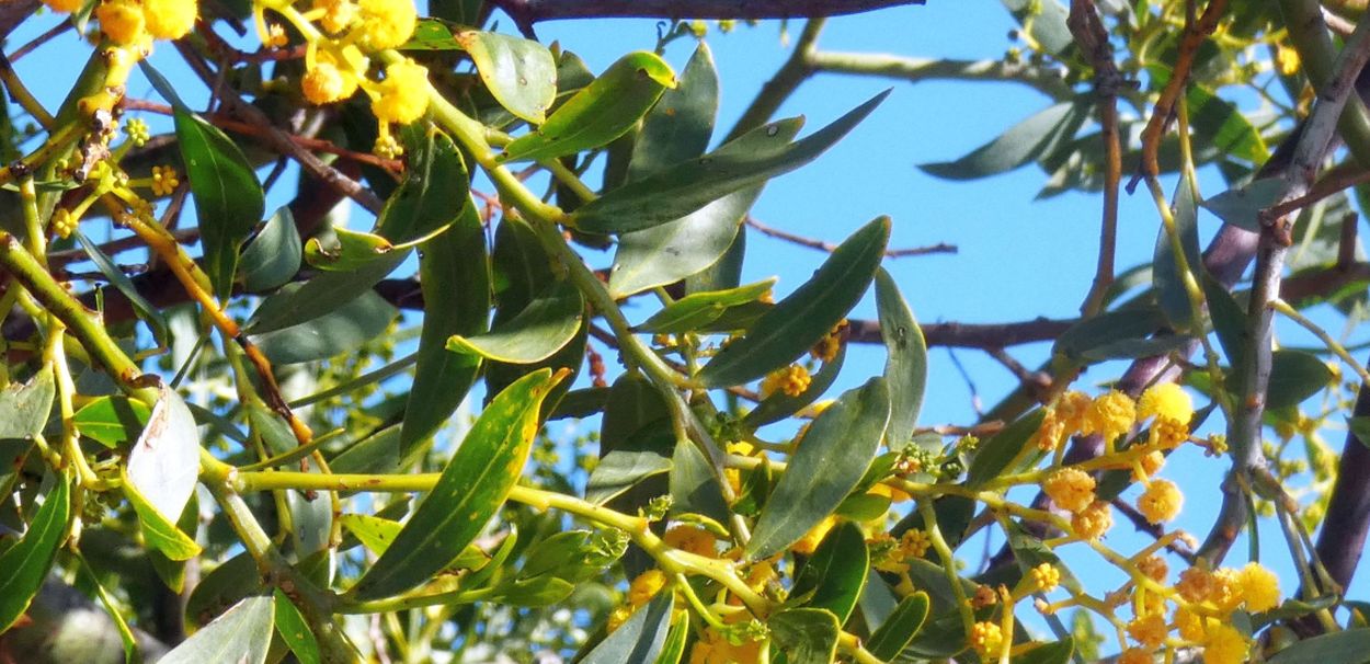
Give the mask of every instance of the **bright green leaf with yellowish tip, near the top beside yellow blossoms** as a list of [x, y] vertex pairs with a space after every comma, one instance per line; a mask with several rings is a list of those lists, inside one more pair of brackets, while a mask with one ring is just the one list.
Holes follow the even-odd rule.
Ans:
[[655, 53], [627, 53], [566, 100], [536, 131], [504, 146], [501, 162], [555, 159], [608, 145], [675, 86], [670, 64]]

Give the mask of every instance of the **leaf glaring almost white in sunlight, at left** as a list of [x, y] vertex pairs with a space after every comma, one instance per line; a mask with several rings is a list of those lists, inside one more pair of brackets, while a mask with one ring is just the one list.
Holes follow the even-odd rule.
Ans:
[[175, 523], [200, 476], [200, 429], [181, 394], [166, 386], [129, 453], [127, 483], [164, 522]]

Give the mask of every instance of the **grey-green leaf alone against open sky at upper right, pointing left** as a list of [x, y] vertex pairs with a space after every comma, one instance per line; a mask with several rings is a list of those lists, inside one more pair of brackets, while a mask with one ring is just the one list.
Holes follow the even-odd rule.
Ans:
[[977, 179], [1011, 171], [1074, 137], [1088, 111], [1085, 101], [1062, 101], [1008, 127], [999, 138], [955, 162], [921, 164], [918, 168], [944, 179]]

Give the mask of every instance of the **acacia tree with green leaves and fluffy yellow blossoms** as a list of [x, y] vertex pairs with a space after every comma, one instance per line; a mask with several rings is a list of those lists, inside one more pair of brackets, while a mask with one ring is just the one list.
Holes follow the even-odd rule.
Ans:
[[[825, 16], [899, 0], [44, 3], [0, 7], [7, 31], [55, 25], [0, 59], [11, 661], [1365, 660], [1344, 589], [1370, 523], [1370, 374], [1303, 314], [1365, 311], [1363, 4], [1004, 0], [1022, 47], [960, 62], [819, 47]], [[521, 36], [488, 30], [497, 14]], [[536, 37], [606, 16], [670, 21], [597, 74]], [[806, 19], [792, 56], [708, 151], [703, 19], [775, 18]], [[11, 60], [71, 29], [93, 48], [49, 110]], [[674, 40], [699, 41], [678, 71]], [[749, 219], [884, 99], [800, 137], [771, 115], [817, 73], [1051, 97], [923, 170], [1036, 164], [1043, 196], [1099, 192], [1080, 318], [921, 327], [880, 267], [901, 253], [888, 219], [838, 245]], [[263, 222], [292, 162], [293, 201]], [[1206, 166], [1230, 189], [1201, 196]], [[1155, 259], [1119, 272], [1134, 188]], [[336, 225], [340, 205], [373, 230]], [[1200, 208], [1223, 222], [1207, 249]], [[740, 283], [747, 229], [829, 256], [773, 296]], [[878, 320], [848, 320], [870, 289]], [[627, 300], [651, 315], [630, 323]], [[1277, 349], [1277, 316], [1323, 345]], [[1006, 350], [1049, 340], [1037, 370]], [[884, 345], [884, 372], [827, 394], [848, 344]], [[929, 346], [982, 349], [1022, 385], [982, 422], [926, 426]], [[1118, 359], [1108, 389], [1073, 387]], [[585, 439], [541, 434], [596, 415]], [[1203, 490], [1162, 476], [1185, 445], [1230, 460], [1201, 538], [1167, 526]], [[1152, 542], [1111, 546], [1115, 519]], [[1297, 576], [1255, 546], [1234, 560], [1244, 530]], [[986, 534], [1003, 550], [967, 545]], [[1084, 583], [1063, 546], [1126, 580]]]

